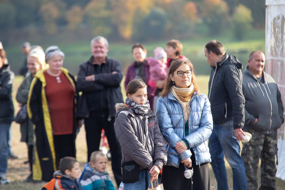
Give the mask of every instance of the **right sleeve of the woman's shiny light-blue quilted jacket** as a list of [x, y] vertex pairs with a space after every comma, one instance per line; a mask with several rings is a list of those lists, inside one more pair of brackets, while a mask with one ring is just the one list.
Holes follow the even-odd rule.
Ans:
[[184, 137], [189, 144], [189, 148], [193, 148], [205, 142], [213, 130], [213, 118], [211, 114], [211, 105], [206, 96], [204, 98], [204, 106], [202, 110], [201, 120], [199, 128], [195, 131]]

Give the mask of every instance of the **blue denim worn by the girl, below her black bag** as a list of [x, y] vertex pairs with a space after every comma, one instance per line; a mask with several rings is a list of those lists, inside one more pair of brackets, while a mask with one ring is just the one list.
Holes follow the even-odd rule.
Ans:
[[140, 180], [134, 183], [124, 183], [124, 190], [146, 190], [148, 189], [149, 181], [150, 181], [149, 171], [141, 169]]

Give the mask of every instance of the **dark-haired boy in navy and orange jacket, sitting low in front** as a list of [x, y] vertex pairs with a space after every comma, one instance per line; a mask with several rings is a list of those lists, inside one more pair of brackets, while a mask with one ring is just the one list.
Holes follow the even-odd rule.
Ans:
[[80, 176], [79, 162], [73, 158], [66, 156], [59, 162], [59, 170], [54, 172], [54, 178], [42, 187], [42, 190], [54, 189], [74, 189], [82, 190], [80, 183], [77, 181]]

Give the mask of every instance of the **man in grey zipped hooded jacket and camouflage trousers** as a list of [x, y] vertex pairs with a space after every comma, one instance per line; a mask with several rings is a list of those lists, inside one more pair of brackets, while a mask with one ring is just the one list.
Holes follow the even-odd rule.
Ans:
[[265, 56], [260, 51], [249, 55], [243, 71], [245, 125], [252, 134], [241, 152], [248, 189], [257, 189], [257, 168], [261, 159], [260, 189], [276, 189], [277, 128], [284, 122], [281, 93], [274, 79], [263, 71]]

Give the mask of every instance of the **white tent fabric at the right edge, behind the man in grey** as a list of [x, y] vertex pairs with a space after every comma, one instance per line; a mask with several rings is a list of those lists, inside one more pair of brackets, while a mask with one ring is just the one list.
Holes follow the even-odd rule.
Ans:
[[[285, 107], [285, 0], [266, 0], [265, 5], [265, 71], [276, 81]], [[278, 129], [276, 177], [285, 180], [285, 124]]]

